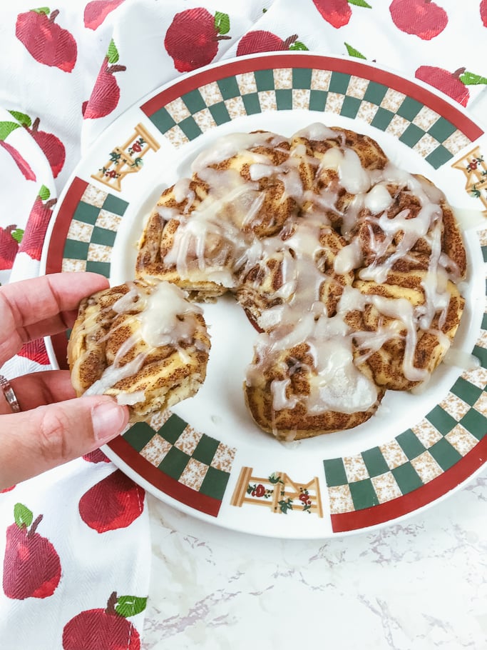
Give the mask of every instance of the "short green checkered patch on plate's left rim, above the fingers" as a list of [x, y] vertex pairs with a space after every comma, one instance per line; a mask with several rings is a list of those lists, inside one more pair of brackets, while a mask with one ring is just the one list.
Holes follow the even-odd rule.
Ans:
[[73, 211], [64, 244], [63, 271], [93, 271], [110, 276], [111, 249], [127, 201], [87, 185]]

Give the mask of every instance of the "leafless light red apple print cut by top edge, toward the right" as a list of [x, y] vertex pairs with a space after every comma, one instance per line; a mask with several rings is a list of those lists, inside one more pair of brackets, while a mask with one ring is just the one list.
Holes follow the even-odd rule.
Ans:
[[398, 29], [424, 41], [434, 39], [448, 24], [446, 11], [431, 0], [392, 0], [389, 11]]

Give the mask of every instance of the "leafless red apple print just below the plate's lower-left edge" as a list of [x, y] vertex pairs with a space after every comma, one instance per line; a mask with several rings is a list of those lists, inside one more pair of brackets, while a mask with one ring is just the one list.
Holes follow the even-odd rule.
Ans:
[[145, 492], [116, 469], [80, 499], [81, 519], [98, 533], [130, 526], [144, 509]]

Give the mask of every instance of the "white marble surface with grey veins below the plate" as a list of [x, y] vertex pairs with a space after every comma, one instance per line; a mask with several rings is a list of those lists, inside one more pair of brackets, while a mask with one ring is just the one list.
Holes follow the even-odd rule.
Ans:
[[401, 524], [321, 541], [148, 505], [143, 650], [487, 649], [487, 471]]

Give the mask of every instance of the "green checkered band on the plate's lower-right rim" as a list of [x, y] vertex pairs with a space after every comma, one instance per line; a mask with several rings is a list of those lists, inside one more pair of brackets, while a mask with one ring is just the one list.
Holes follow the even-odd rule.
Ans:
[[[483, 345], [487, 345], [487, 314]], [[473, 354], [487, 369], [487, 349]], [[441, 402], [412, 429], [390, 443], [356, 456], [324, 460], [332, 514], [362, 510], [408, 494], [461, 460], [487, 435], [487, 386], [479, 386], [482, 371], [463, 373]], [[476, 382], [476, 383], [473, 383]]]

